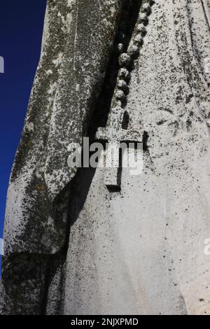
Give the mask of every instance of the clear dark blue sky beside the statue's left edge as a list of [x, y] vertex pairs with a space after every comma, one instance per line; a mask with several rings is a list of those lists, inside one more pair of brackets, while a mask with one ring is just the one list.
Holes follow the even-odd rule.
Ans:
[[31, 85], [40, 57], [46, 0], [1, 0], [0, 56], [0, 237], [10, 169], [27, 111]]

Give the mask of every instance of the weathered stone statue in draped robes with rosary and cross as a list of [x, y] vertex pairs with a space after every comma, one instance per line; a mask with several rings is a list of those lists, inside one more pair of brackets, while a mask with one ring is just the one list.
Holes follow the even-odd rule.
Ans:
[[[209, 62], [209, 0], [48, 0], [1, 314], [210, 314]], [[83, 137], [143, 172], [69, 167]]]

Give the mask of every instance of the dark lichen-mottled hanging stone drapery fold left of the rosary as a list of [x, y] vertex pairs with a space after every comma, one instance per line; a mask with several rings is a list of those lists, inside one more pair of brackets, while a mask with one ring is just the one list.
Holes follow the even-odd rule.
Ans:
[[[121, 0], [48, 1], [41, 60], [8, 188], [5, 253], [55, 253], [66, 236], [67, 158], [97, 102]], [[79, 23], [78, 23], [79, 22]]]

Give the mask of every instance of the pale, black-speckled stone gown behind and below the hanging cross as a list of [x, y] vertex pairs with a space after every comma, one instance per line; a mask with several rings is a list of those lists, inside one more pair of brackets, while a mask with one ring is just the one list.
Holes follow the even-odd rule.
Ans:
[[85, 197], [78, 179], [66, 314], [210, 313], [209, 22], [202, 1], [155, 1], [146, 29], [127, 103], [144, 173], [109, 193], [97, 169]]

